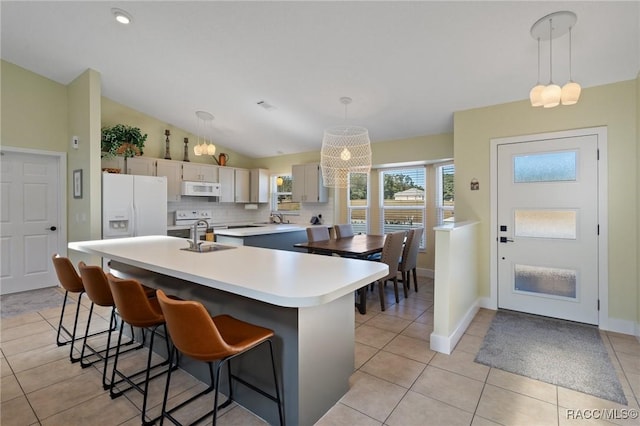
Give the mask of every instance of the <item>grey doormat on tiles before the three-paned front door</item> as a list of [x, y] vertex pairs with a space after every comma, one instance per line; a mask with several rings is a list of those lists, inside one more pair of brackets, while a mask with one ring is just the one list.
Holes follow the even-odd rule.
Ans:
[[627, 405], [592, 325], [499, 310], [475, 361]]

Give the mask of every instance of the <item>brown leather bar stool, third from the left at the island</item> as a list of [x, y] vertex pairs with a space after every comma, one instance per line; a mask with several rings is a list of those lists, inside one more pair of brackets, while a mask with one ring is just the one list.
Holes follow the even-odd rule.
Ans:
[[[135, 389], [143, 395], [142, 400], [142, 424], [153, 424], [159, 416], [155, 419], [147, 420], [147, 399], [149, 396], [149, 381], [153, 380], [161, 375], [164, 375], [171, 366], [167, 368], [161, 368], [169, 364], [169, 360], [163, 360], [155, 365], [151, 365], [151, 358], [153, 355], [153, 343], [156, 336], [165, 339], [167, 344], [167, 357], [171, 354], [171, 348], [169, 346], [169, 338], [167, 336], [166, 324], [164, 321], [164, 315], [158, 304], [158, 299], [148, 298], [145, 293], [144, 287], [139, 281], [134, 279], [120, 279], [111, 274], [107, 274], [109, 281], [109, 287], [111, 288], [111, 294], [116, 304], [116, 309], [122, 321], [120, 322], [120, 331], [118, 333], [118, 343], [116, 344], [116, 354], [113, 360], [113, 370], [111, 373], [111, 387], [109, 394], [111, 398], [117, 398], [124, 392]], [[118, 370], [118, 359], [120, 357], [120, 346], [122, 342], [122, 332], [124, 330], [124, 323], [127, 323], [133, 327], [138, 327], [142, 330], [142, 333], [150, 334], [149, 339], [149, 353], [147, 356], [146, 368], [139, 370], [135, 373], [125, 374]], [[161, 333], [164, 331], [164, 334]], [[177, 364], [177, 363], [176, 363]], [[177, 368], [177, 365], [175, 366]], [[153, 371], [153, 376], [151, 372]], [[144, 374], [142, 381], [136, 381], [138, 377]], [[116, 376], [117, 380], [116, 381]], [[125, 389], [117, 390], [116, 386], [120, 383], [126, 382], [128, 387]]]

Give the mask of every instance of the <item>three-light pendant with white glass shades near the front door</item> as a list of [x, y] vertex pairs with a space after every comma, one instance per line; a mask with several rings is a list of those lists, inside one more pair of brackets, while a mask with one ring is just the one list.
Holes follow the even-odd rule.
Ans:
[[[554, 12], [538, 19], [531, 27], [531, 37], [538, 41], [538, 83], [529, 92], [531, 106], [553, 108], [560, 104], [573, 105], [580, 98], [580, 85], [571, 74], [571, 30], [578, 17], [569, 11]], [[553, 39], [569, 33], [569, 81], [558, 86], [553, 82]], [[540, 84], [540, 40], [549, 40], [549, 84]]]

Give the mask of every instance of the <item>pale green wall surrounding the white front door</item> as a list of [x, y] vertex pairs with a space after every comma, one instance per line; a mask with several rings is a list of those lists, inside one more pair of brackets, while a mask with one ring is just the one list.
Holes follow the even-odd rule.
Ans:
[[[637, 318], [637, 80], [583, 89], [578, 104], [532, 108], [528, 101], [454, 114], [456, 219], [482, 222], [479, 296], [490, 289], [489, 146], [492, 138], [596, 126], [608, 129], [609, 316]], [[479, 191], [470, 191], [477, 178]]]

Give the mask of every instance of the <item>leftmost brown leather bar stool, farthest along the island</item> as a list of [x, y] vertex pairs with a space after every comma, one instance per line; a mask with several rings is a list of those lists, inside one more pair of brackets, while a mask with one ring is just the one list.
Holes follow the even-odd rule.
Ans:
[[[73, 267], [71, 260], [68, 257], [60, 256], [57, 253], [51, 258], [53, 262], [53, 267], [56, 270], [56, 275], [58, 276], [58, 281], [62, 288], [64, 288], [64, 299], [62, 301], [62, 310], [60, 311], [60, 321], [58, 322], [58, 333], [56, 335], [56, 343], [58, 346], [64, 346], [71, 344], [71, 349], [69, 350], [69, 359], [71, 362], [78, 362], [80, 358], [73, 356], [73, 350], [75, 348], [76, 342], [76, 332], [78, 328], [78, 316], [80, 314], [80, 306], [82, 301], [82, 295], [84, 294], [84, 285], [82, 285], [82, 278], [76, 272], [76, 269]], [[73, 331], [69, 331], [63, 324], [64, 319], [64, 311], [67, 306], [67, 300], [69, 298], [69, 293], [76, 293], [77, 301], [76, 301], [76, 315], [73, 320]], [[95, 336], [100, 333], [105, 333], [107, 330], [99, 331], [98, 333], [91, 334], [89, 337]], [[61, 336], [61, 334], [66, 335], [65, 337]]]

